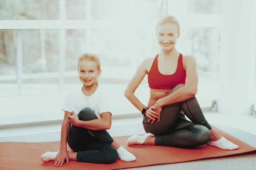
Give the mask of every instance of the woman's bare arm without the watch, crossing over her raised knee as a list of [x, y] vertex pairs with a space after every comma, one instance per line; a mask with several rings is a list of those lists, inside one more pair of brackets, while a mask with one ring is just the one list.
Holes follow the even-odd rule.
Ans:
[[183, 102], [187, 99], [192, 98], [197, 94], [198, 88], [198, 74], [196, 71], [196, 61], [194, 57], [184, 56], [184, 67], [186, 70], [186, 81], [185, 86], [178, 89], [174, 93], [159, 99], [155, 106], [163, 107], [165, 105], [171, 105], [177, 102]]

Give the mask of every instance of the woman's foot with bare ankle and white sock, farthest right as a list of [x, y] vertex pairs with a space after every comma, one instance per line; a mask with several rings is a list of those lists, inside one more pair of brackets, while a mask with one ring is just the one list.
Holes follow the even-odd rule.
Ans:
[[223, 136], [215, 132], [215, 130], [211, 129], [210, 131], [211, 131], [211, 136], [209, 141], [207, 142], [208, 145], [215, 146], [223, 150], [235, 150], [239, 148], [238, 145], [228, 141]]

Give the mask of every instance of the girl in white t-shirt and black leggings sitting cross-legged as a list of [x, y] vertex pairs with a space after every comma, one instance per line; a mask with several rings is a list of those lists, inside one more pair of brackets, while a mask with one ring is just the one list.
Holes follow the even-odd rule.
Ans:
[[[117, 158], [135, 161], [135, 156], [115, 142], [106, 131], [111, 128], [112, 113], [108, 97], [98, 85], [101, 74], [99, 58], [95, 54], [81, 55], [78, 73], [83, 86], [68, 94], [61, 107], [65, 116], [60, 150], [44, 153], [41, 160], [54, 161], [55, 167], [61, 167], [65, 160], [67, 164], [70, 160], [98, 164], [111, 164]], [[67, 144], [72, 153], [67, 151]]]

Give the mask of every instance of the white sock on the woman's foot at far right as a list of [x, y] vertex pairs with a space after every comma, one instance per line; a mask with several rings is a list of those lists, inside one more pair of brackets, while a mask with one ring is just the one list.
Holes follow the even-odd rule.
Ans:
[[219, 139], [218, 141], [208, 141], [207, 144], [218, 147], [223, 150], [235, 150], [239, 148], [238, 145], [233, 144], [224, 137], [221, 137], [221, 139]]

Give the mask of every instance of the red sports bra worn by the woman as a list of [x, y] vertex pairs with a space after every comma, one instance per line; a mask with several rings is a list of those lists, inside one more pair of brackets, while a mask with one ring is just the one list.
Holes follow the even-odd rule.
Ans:
[[184, 83], [186, 71], [183, 68], [182, 54], [179, 55], [177, 68], [174, 74], [161, 74], [158, 70], [158, 55], [154, 58], [153, 64], [148, 72], [148, 85], [150, 91], [170, 92], [176, 85]]

